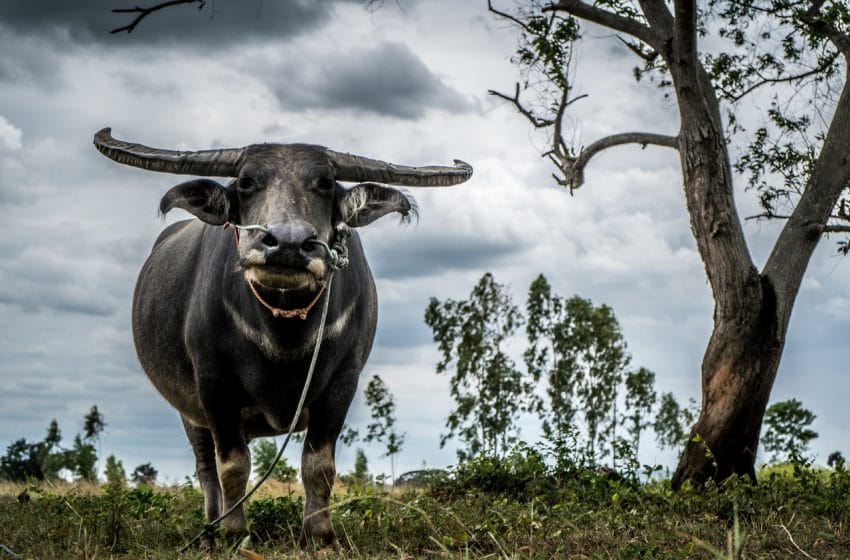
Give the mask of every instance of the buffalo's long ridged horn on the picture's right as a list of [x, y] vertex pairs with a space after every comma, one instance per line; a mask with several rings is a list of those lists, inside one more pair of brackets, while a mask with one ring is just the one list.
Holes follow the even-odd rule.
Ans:
[[454, 167], [428, 165], [408, 167], [353, 154], [327, 150], [339, 181], [374, 181], [407, 187], [448, 187], [472, 177], [472, 166], [459, 159]]

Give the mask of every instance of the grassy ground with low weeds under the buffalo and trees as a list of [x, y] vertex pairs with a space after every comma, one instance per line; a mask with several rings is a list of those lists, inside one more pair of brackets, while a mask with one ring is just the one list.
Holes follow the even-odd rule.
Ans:
[[[341, 491], [340, 542], [323, 558], [850, 558], [850, 474], [763, 471], [751, 486], [673, 493], [592, 471], [554, 472], [530, 453], [478, 461], [429, 489]], [[178, 556], [203, 526], [200, 493], [150, 489], [0, 487], [0, 544], [23, 558], [233, 558], [220, 547]], [[25, 497], [26, 496], [26, 497]], [[302, 498], [253, 500], [263, 558], [301, 558]], [[4, 558], [0, 552], [0, 558]]]

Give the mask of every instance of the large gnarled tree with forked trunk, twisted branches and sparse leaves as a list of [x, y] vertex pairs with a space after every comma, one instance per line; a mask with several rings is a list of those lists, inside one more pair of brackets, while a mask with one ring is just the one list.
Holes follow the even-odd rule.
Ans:
[[[699, 7], [693, 0], [530, 0], [510, 13], [488, 6], [517, 26], [514, 61], [523, 71], [513, 94], [491, 93], [549, 134], [545, 155], [570, 192], [603, 150], [639, 144], [678, 151], [715, 307], [702, 407], [673, 485], [734, 474], [755, 479], [762, 417], [803, 275], [825, 234], [850, 231], [842, 200], [850, 184], [850, 9], [836, 0], [709, 0]], [[565, 115], [579, 98], [569, 72], [581, 22], [613, 31], [612, 40], [637, 57], [635, 75], [655, 80], [659, 94], [675, 102], [677, 134], [624, 132], [575, 146]], [[767, 124], [747, 131], [736, 111], [756, 91], [773, 102]], [[734, 166], [727, 134], [746, 138]], [[759, 217], [786, 220], [762, 270], [735, 208], [733, 167], [758, 191]], [[846, 242], [841, 248], [850, 250]]]

